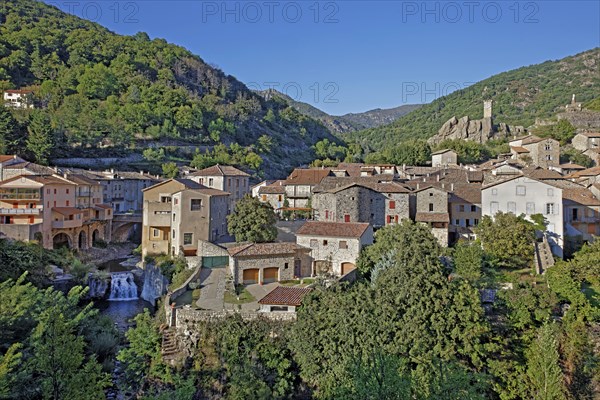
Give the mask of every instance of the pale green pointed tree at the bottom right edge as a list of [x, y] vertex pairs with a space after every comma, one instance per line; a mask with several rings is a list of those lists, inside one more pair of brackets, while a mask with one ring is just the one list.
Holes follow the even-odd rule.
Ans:
[[527, 351], [527, 384], [531, 398], [566, 399], [559, 363], [556, 327], [546, 323], [539, 328], [536, 339]]

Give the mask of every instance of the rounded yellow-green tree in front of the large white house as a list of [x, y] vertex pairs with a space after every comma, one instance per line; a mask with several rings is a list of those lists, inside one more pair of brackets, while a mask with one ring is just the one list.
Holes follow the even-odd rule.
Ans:
[[526, 267], [533, 261], [535, 226], [523, 216], [498, 212], [484, 216], [475, 231], [483, 249], [500, 265]]

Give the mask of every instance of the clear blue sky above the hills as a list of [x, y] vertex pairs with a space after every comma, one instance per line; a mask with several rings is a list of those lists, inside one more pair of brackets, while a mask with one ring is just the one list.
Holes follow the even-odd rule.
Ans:
[[331, 114], [430, 102], [600, 46], [598, 1], [46, 1]]

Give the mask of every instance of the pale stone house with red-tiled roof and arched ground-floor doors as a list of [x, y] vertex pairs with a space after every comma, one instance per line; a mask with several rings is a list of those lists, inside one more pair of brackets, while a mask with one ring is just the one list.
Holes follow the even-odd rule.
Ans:
[[296, 243], [310, 249], [313, 275], [343, 276], [356, 268], [364, 246], [373, 244], [368, 223], [307, 221], [296, 232]]

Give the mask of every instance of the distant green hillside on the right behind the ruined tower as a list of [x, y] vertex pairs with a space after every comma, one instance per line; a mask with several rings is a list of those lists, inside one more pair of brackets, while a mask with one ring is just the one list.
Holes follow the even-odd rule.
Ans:
[[494, 101], [496, 121], [527, 127], [536, 118], [554, 116], [560, 107], [570, 103], [572, 94], [583, 103], [597, 98], [598, 88], [600, 48], [595, 48], [494, 75], [426, 104], [392, 124], [353, 132], [348, 137], [374, 150], [409, 139], [426, 139], [453, 116], [482, 118], [484, 99]]

